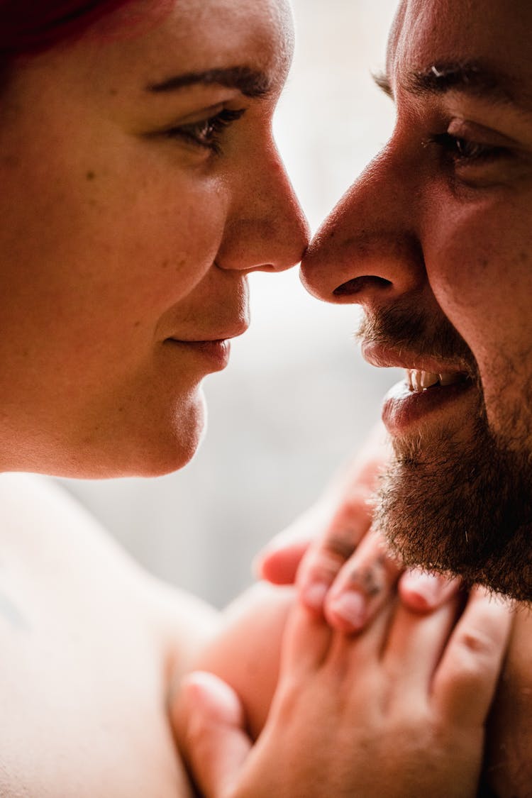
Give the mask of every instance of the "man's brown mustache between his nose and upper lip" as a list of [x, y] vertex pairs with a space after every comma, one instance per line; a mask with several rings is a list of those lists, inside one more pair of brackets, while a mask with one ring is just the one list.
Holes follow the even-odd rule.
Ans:
[[378, 313], [366, 313], [355, 338], [366, 344], [448, 362], [471, 379], [479, 379], [475, 355], [443, 316], [433, 318], [422, 310], [413, 310], [412, 306], [392, 305]]

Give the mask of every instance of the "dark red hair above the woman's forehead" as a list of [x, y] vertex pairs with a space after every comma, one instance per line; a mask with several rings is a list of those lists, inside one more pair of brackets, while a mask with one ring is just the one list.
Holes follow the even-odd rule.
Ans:
[[0, 0], [0, 57], [37, 53], [83, 34], [131, 0]]

